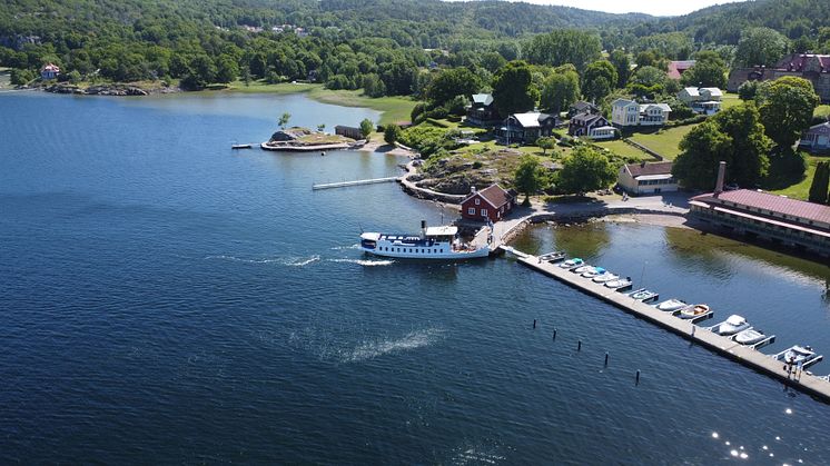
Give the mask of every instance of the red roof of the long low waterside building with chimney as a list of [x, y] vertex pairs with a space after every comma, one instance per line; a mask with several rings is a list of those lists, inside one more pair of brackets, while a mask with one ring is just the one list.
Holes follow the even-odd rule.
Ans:
[[778, 196], [764, 191], [752, 189], [735, 189], [734, 191], [723, 191], [717, 198], [713, 195], [701, 195], [693, 199], [703, 201], [714, 201], [715, 204], [734, 202], [738, 207], [752, 207], [754, 209], [769, 210], [775, 214], [797, 217], [798, 219], [819, 221], [830, 224], [830, 206], [821, 204], [807, 202], [798, 199], [790, 199], [784, 196]]

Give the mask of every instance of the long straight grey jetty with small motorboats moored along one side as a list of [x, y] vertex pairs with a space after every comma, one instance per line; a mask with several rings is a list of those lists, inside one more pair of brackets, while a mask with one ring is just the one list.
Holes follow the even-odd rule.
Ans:
[[500, 248], [515, 255], [516, 260], [523, 266], [540, 271], [549, 277], [553, 277], [587, 295], [612, 304], [629, 314], [649, 320], [669, 331], [709, 348], [714, 353], [737, 360], [749, 368], [778, 379], [790, 387], [812, 395], [824, 403], [830, 403], [830, 381], [822, 377], [817, 377], [807, 371], [798, 378], [792, 377], [788, 370], [782, 368], [782, 361], [757, 349], [740, 345], [728, 337], [720, 336], [705, 328], [699, 327], [689, 320], [680, 319], [671, 313], [662, 311], [653, 306], [635, 300], [630, 296], [610, 289], [602, 284], [595, 284], [593, 280], [583, 278], [582, 276], [573, 274], [567, 269], [563, 269], [555, 264], [540, 260], [537, 256], [518, 251], [508, 246], [500, 246]]

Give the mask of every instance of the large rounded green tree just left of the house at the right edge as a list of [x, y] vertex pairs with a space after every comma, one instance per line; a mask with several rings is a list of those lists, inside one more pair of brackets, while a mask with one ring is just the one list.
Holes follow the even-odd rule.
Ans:
[[810, 126], [819, 96], [803, 78], [785, 76], [758, 85], [755, 96], [767, 135], [781, 147], [791, 147]]

